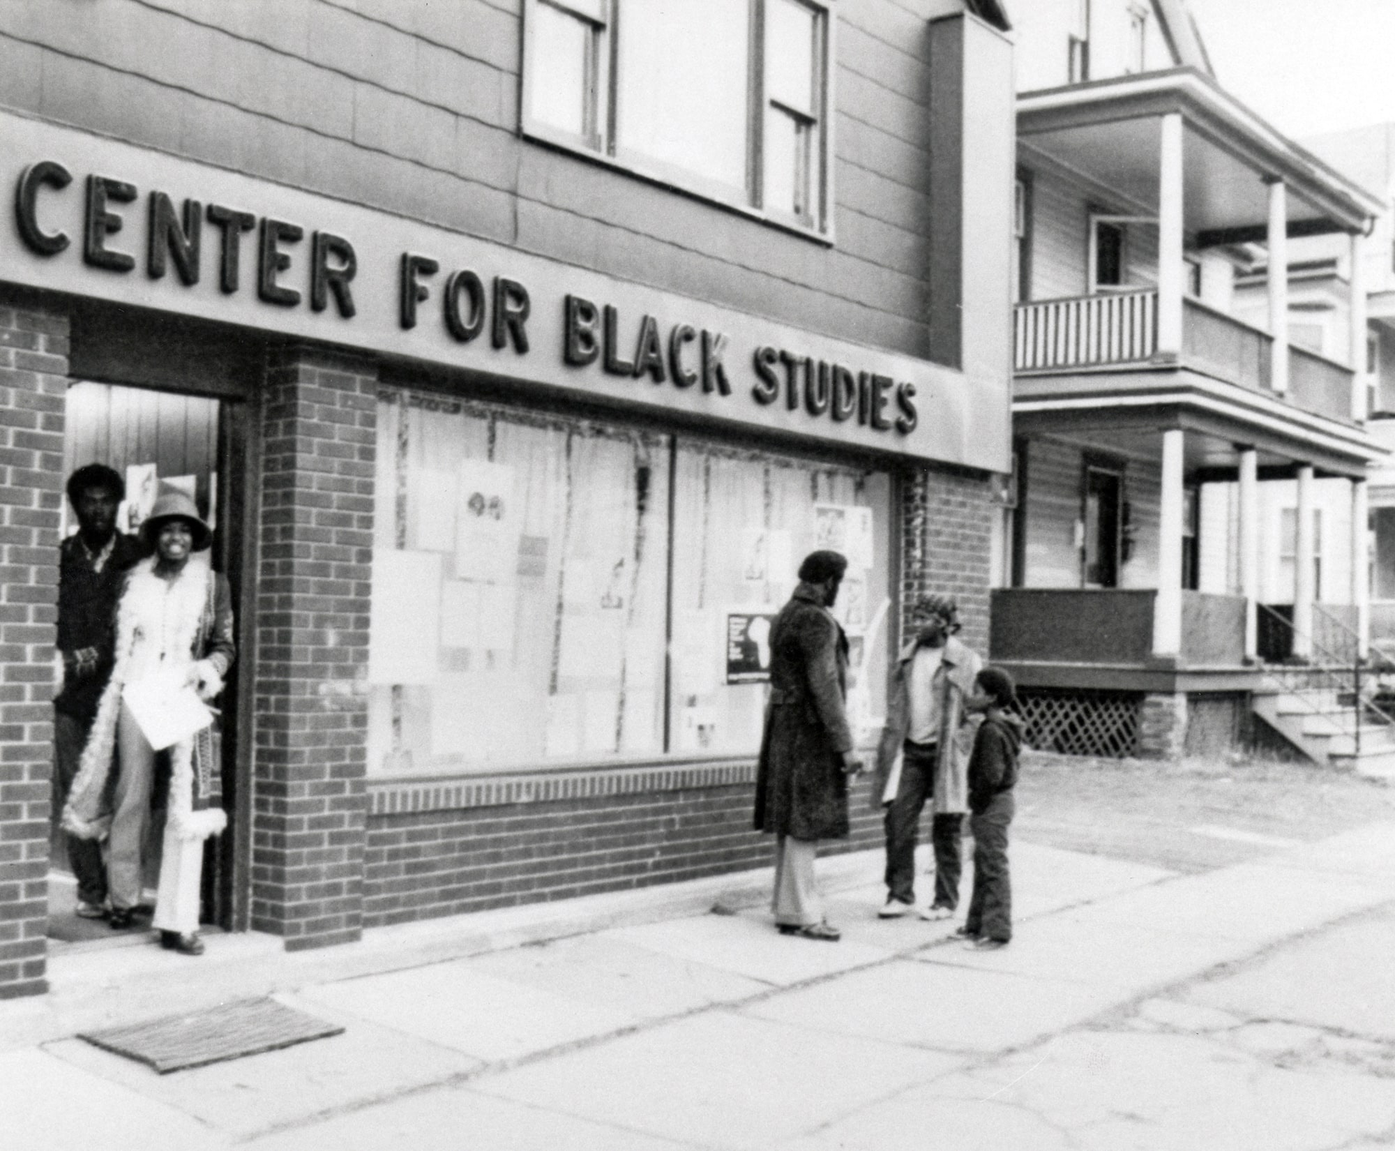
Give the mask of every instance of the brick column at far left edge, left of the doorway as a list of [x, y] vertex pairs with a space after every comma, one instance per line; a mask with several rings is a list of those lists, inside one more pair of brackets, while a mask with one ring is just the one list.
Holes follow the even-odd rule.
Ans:
[[0, 299], [0, 999], [39, 995], [49, 924], [66, 315]]

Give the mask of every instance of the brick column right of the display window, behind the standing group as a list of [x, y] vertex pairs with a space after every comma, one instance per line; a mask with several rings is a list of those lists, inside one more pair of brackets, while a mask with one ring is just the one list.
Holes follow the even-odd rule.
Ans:
[[988, 653], [992, 502], [986, 476], [922, 470], [903, 487], [901, 633], [910, 608], [928, 592], [958, 603], [960, 639]]

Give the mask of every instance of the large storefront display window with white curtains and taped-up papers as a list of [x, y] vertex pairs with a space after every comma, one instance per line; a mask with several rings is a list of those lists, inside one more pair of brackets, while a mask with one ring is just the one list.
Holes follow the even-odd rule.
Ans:
[[[886, 667], [890, 477], [409, 389], [378, 399], [375, 776], [753, 755], [802, 555]], [[855, 678], [865, 727], [884, 674]]]

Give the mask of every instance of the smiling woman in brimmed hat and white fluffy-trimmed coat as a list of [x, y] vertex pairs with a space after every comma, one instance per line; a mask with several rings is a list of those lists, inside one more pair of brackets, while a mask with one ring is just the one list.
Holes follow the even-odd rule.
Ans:
[[[107, 840], [110, 924], [131, 926], [141, 894], [142, 847], [151, 818], [155, 751], [123, 700], [127, 685], [169, 678], [212, 700], [232, 667], [233, 607], [227, 580], [206, 562], [191, 562], [212, 532], [183, 491], [165, 490], [141, 537], [153, 555], [127, 576], [116, 610], [116, 667], [98, 705], [63, 827], [81, 838]], [[204, 840], [227, 823], [212, 804], [219, 765], [205, 728], [169, 749], [170, 787], [153, 926], [160, 946], [197, 956]], [[112, 778], [116, 772], [114, 781]]]

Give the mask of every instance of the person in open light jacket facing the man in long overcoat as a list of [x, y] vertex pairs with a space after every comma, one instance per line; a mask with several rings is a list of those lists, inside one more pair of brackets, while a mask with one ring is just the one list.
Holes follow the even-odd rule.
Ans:
[[901, 649], [887, 692], [887, 723], [877, 748], [873, 805], [886, 808], [886, 905], [894, 919], [915, 911], [915, 841], [925, 801], [932, 801], [935, 901], [919, 914], [947, 919], [958, 905], [961, 825], [968, 811], [967, 746], [972, 728], [964, 700], [982, 660], [954, 638], [958, 608], [922, 596], [912, 610], [915, 633]]

